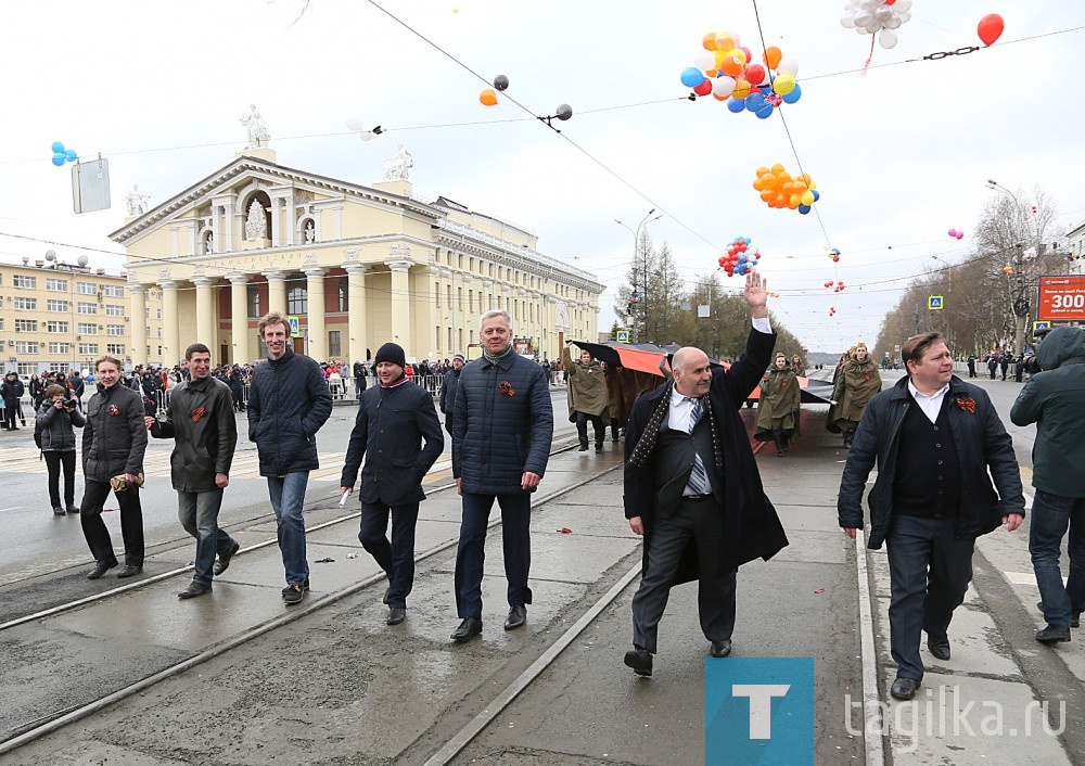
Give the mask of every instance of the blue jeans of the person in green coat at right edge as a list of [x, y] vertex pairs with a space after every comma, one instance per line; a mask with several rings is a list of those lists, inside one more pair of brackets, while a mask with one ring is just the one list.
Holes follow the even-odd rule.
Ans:
[[[1059, 559], [1067, 529], [1070, 576], [1063, 586]], [[1071, 620], [1085, 612], [1085, 498], [1037, 489], [1029, 522], [1029, 552], [1044, 602], [1044, 620], [1052, 627], [1070, 627]]]

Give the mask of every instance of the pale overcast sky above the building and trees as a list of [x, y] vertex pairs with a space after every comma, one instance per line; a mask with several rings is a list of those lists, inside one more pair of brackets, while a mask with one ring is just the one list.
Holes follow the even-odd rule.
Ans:
[[[1085, 25], [1082, 2], [915, 0], [899, 44], [876, 47], [864, 74], [870, 38], [841, 26], [843, 2], [762, 0], [765, 44], [801, 67], [803, 97], [782, 107], [786, 125], [711, 97], [690, 102], [679, 81], [707, 31], [738, 33], [760, 55], [750, 1], [379, 5], [444, 52], [366, 0], [310, 0], [304, 14], [305, 0], [11, 3], [0, 258], [40, 258], [48, 240], [73, 245], [54, 246], [62, 257], [119, 268], [92, 248], [118, 250], [106, 234], [123, 222], [125, 193], [138, 183], [156, 205], [230, 163], [251, 103], [289, 167], [371, 183], [404, 143], [416, 194], [528, 227], [542, 253], [595, 272], [608, 285], [601, 330], [633, 255], [614, 219], [636, 228], [653, 207], [663, 218], [649, 231], [690, 281], [715, 270], [732, 238], [750, 237], [781, 293], [770, 307], [812, 350], [872, 343], [907, 281], [940, 266], [932, 256], [965, 257], [999, 193], [988, 178], [1022, 204], [1042, 188], [1060, 231], [1085, 220], [1085, 30], [1065, 31]], [[922, 61], [981, 44], [976, 24], [993, 12], [1006, 20], [998, 44]], [[556, 122], [558, 135], [503, 97], [483, 106], [487, 84], [463, 65], [485, 80], [506, 75], [508, 94], [536, 115], [567, 103], [574, 116]], [[362, 142], [346, 128], [352, 117], [385, 132]], [[53, 141], [84, 161], [110, 157], [112, 210], [72, 212]], [[794, 174], [799, 162], [821, 192], [819, 217], [770, 209], [752, 188], [758, 166]], [[844, 292], [824, 288], [830, 279]]]

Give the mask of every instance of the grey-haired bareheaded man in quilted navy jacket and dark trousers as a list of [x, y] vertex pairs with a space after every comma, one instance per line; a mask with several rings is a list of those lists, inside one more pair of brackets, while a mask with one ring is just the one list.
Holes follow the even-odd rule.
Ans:
[[553, 439], [553, 405], [542, 369], [512, 348], [508, 311], [482, 315], [483, 356], [463, 368], [452, 419], [452, 476], [463, 496], [456, 551], [456, 610], [463, 622], [454, 641], [482, 634], [482, 572], [486, 524], [501, 506], [509, 617], [505, 629], [527, 618], [532, 496], [546, 472]]

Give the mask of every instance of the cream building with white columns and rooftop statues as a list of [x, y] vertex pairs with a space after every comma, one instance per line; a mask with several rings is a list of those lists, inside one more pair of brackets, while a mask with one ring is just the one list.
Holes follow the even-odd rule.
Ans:
[[297, 317], [294, 349], [320, 361], [368, 360], [388, 341], [409, 359], [467, 354], [492, 308], [540, 358], [557, 359], [563, 337], [596, 337], [593, 275], [540, 254], [527, 229], [420, 201], [410, 166], [386, 161], [385, 180], [365, 187], [257, 146], [126, 219], [110, 237], [126, 248], [132, 335], [146, 332], [149, 294], [163, 307], [161, 357], [138, 346], [132, 362], [173, 366], [196, 341], [216, 362], [259, 359], [271, 309]]

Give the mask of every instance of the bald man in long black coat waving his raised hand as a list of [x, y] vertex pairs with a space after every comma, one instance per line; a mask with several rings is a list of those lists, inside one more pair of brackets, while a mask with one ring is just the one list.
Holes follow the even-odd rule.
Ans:
[[698, 610], [710, 653], [727, 656], [736, 569], [788, 545], [738, 414], [776, 345], [761, 275], [746, 276], [745, 299], [753, 329], [745, 355], [729, 371], [710, 367], [699, 348], [682, 348], [672, 363], [674, 381], [633, 406], [625, 515], [644, 536], [644, 563], [633, 599], [634, 649], [625, 664], [641, 676], [652, 675], [658, 626], [673, 585], [699, 580]]

